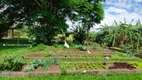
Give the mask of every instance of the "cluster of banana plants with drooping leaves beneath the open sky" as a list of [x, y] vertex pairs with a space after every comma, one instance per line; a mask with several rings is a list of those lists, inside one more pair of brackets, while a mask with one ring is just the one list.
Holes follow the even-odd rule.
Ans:
[[[133, 21], [133, 20], [132, 20]], [[140, 30], [142, 25], [137, 21], [135, 25], [120, 21], [120, 24], [115, 21], [115, 25], [100, 28], [97, 33], [96, 42], [99, 44], [106, 44], [109, 47], [118, 47], [120, 45], [131, 46], [132, 50], [139, 51], [142, 45], [142, 32]]]

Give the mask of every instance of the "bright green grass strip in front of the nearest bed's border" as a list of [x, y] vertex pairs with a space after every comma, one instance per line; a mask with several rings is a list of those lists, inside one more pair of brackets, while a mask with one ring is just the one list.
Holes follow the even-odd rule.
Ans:
[[68, 74], [29, 77], [3, 77], [0, 80], [142, 80], [142, 74]]

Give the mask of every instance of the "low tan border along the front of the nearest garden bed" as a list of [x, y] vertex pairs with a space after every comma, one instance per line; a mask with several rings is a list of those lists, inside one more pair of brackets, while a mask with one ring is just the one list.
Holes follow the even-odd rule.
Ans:
[[[82, 70], [67, 71], [67, 74], [120, 74], [120, 73], [142, 73], [142, 69], [128, 70], [128, 69], [112, 69], [112, 70]], [[0, 77], [25, 77], [25, 76], [40, 76], [40, 75], [60, 75], [61, 72], [0, 72]]]

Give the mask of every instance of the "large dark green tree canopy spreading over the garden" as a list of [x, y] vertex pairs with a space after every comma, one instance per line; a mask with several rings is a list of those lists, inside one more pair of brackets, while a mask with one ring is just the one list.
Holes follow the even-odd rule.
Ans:
[[[35, 31], [33, 34], [36, 39], [49, 44], [58, 33], [67, 31], [67, 17], [71, 21], [81, 20], [88, 30], [95, 23], [100, 23], [104, 17], [101, 2], [102, 0], [0, 0], [0, 9], [5, 8], [0, 16], [7, 15], [6, 20], [1, 20], [7, 21], [8, 24], [4, 23], [4, 26], [27, 25]], [[41, 32], [44, 31], [40, 38], [41, 33], [36, 32], [39, 28], [42, 28]]]

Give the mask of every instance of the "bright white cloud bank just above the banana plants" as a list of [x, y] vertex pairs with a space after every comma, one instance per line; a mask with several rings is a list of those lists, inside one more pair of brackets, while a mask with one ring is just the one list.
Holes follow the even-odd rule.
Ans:
[[[115, 10], [110, 11], [111, 9], [115, 9]], [[119, 14], [112, 14], [110, 12], [115, 12], [115, 13], [119, 13]], [[108, 25], [112, 25], [114, 23], [114, 20], [116, 20], [117, 22], [119, 22], [119, 21], [124, 22], [124, 18], [126, 18], [126, 21], [128, 23], [130, 23], [131, 20], [134, 19], [135, 21], [133, 22], [133, 24], [135, 24], [136, 20], [138, 20], [138, 19], [141, 19], [141, 21], [142, 21], [142, 17], [140, 14], [137, 14], [135, 12], [130, 13], [130, 12], [126, 11], [125, 9], [110, 7], [105, 10], [104, 22]]]

